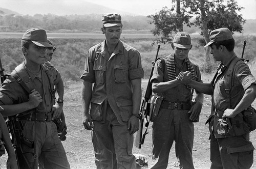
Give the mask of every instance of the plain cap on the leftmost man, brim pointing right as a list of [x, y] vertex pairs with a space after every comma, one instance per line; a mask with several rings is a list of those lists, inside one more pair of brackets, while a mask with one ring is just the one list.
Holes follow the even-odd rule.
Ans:
[[32, 28], [28, 29], [22, 37], [22, 40], [31, 40], [37, 46], [53, 47], [47, 42], [46, 31], [42, 29]]

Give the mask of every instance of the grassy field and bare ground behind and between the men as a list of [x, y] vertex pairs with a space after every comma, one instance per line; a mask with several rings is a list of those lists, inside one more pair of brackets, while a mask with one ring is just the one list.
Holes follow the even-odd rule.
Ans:
[[[3, 34], [0, 33], [0, 52], [2, 53], [1, 60], [6, 70], [12, 70], [17, 63], [23, 60], [22, 53], [20, 52], [20, 38], [22, 33]], [[140, 37], [140, 38], [138, 38]], [[2, 38], [2, 39], [1, 39]], [[79, 80], [80, 72], [83, 70], [84, 58], [88, 49], [101, 42], [103, 40], [102, 34], [51, 34], [49, 38], [53, 41], [57, 47], [54, 53], [53, 65], [60, 71], [61, 76], [65, 79], [65, 104], [64, 111], [66, 115], [66, 121], [68, 126], [67, 140], [62, 142], [71, 164], [71, 168], [95, 168], [94, 163], [94, 150], [91, 142], [91, 131], [85, 130], [81, 120], [81, 81]], [[65, 38], [65, 39], [63, 39]], [[198, 46], [198, 35], [192, 36], [194, 47], [189, 52], [189, 58], [199, 66], [204, 62], [204, 48]], [[254, 37], [236, 37], [238, 43], [236, 45], [236, 53], [241, 55], [243, 40], [247, 39], [247, 47], [245, 52], [245, 58], [250, 56], [251, 58], [256, 53], [254, 44], [256, 39]], [[249, 40], [248, 40], [249, 39]], [[152, 45], [153, 38], [150, 35], [135, 35], [135, 34], [122, 34], [121, 40], [130, 44], [138, 49], [141, 53], [142, 66], [145, 71], [142, 91], [146, 90], [146, 83], [148, 81], [148, 74], [150, 73], [152, 64], [155, 59], [157, 44]], [[165, 57], [170, 54], [173, 49], [169, 44], [161, 44], [159, 51], [159, 57]], [[217, 64], [213, 60], [212, 64]], [[256, 75], [256, 62], [251, 60], [249, 62], [254, 76]], [[215, 71], [215, 70], [213, 70]], [[202, 73], [204, 82], [210, 82], [212, 74]], [[73, 80], [72, 80], [73, 79]], [[253, 103], [256, 107], [256, 103]], [[209, 148], [210, 143], [208, 140], [209, 131], [208, 126], [205, 125], [205, 121], [210, 115], [210, 97], [204, 96], [203, 110], [200, 115], [200, 121], [195, 123], [195, 139], [193, 148], [193, 157], [195, 167], [198, 169], [209, 168]], [[152, 124], [151, 124], [152, 125]], [[141, 149], [134, 147], [133, 153], [145, 155], [150, 162], [151, 159], [151, 137], [152, 128], [149, 127], [149, 134], [145, 138], [145, 143]], [[256, 147], [256, 131], [251, 132], [251, 142]], [[7, 155], [1, 157], [1, 166], [5, 168], [5, 161]], [[254, 157], [254, 161], [256, 158]], [[177, 159], [175, 157], [174, 145], [169, 155], [168, 168], [177, 168]], [[256, 162], [253, 163], [252, 168], [256, 169]]]

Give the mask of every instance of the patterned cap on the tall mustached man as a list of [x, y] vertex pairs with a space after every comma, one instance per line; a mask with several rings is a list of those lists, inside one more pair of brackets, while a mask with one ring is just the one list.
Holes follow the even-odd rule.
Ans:
[[102, 23], [104, 27], [123, 26], [121, 15], [119, 14], [103, 14]]

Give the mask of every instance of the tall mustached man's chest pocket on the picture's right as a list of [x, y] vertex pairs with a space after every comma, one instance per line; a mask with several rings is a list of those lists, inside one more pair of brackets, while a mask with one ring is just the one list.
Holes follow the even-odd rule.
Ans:
[[126, 65], [115, 65], [115, 82], [122, 83], [128, 79], [128, 66]]

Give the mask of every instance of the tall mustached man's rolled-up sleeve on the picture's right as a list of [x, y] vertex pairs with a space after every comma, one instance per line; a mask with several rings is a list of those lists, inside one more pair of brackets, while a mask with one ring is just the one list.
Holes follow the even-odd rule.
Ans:
[[140, 53], [137, 50], [133, 50], [133, 53], [129, 56], [132, 56], [130, 63], [129, 63], [129, 78], [130, 80], [136, 79], [136, 78], [143, 78], [144, 77], [144, 71], [141, 66], [141, 57]]

